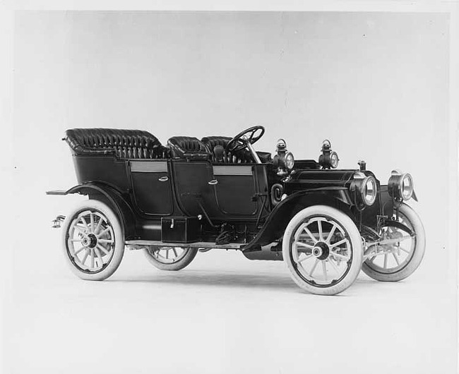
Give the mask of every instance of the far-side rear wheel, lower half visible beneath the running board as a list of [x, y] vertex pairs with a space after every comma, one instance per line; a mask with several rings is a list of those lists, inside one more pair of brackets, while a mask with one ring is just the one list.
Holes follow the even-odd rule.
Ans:
[[143, 253], [148, 262], [160, 270], [181, 270], [193, 261], [198, 248], [150, 246]]

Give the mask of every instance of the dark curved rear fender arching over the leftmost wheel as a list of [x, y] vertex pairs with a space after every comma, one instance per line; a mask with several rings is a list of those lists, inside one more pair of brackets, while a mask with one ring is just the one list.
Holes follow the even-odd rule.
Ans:
[[126, 240], [136, 238], [136, 216], [121, 193], [104, 183], [82, 183], [65, 191], [63, 195], [78, 193], [88, 195], [90, 199], [99, 200], [111, 207], [118, 215], [124, 228]]

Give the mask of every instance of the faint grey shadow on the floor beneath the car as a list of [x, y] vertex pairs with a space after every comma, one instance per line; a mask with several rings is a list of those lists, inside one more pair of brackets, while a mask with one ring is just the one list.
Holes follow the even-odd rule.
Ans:
[[[205, 270], [186, 270], [181, 272], [158, 272], [154, 275], [140, 275], [129, 279], [109, 279], [109, 282], [141, 282], [148, 284], [167, 284], [177, 286], [241, 287], [246, 289], [276, 289], [289, 292], [304, 292], [299, 289], [288, 274], [213, 272]], [[372, 279], [357, 278], [352, 288], [378, 284]]]

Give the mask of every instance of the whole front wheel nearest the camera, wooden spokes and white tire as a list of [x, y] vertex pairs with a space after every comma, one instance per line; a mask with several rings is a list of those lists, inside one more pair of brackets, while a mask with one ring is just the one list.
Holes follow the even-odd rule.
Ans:
[[354, 283], [362, 267], [363, 248], [352, 219], [326, 205], [306, 207], [285, 229], [282, 255], [302, 289], [335, 295]]

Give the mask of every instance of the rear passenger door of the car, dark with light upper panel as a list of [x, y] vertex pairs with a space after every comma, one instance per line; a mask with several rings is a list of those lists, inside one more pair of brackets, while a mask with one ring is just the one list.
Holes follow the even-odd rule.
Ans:
[[133, 198], [146, 215], [171, 215], [172, 188], [166, 160], [130, 161]]

